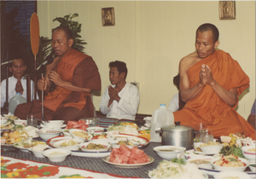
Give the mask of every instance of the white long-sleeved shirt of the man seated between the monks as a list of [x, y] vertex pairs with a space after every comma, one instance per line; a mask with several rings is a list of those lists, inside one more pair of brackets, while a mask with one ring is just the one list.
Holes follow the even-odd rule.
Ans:
[[[115, 85], [111, 86], [113, 88], [115, 87]], [[119, 97], [121, 98], [119, 102], [114, 100], [113, 103], [108, 107], [110, 97], [108, 95], [107, 87], [102, 95], [102, 101], [100, 104], [101, 112], [103, 114], [107, 114], [108, 118], [125, 118], [135, 120], [135, 115], [137, 113], [137, 108], [140, 101], [137, 86], [126, 83], [125, 87], [119, 91]]]

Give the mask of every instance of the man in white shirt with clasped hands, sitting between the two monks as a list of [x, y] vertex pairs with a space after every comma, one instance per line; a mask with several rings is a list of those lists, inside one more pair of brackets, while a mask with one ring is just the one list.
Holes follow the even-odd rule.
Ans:
[[100, 110], [108, 118], [126, 118], [135, 120], [140, 101], [137, 86], [125, 82], [127, 67], [123, 61], [109, 63], [109, 85], [100, 104]]

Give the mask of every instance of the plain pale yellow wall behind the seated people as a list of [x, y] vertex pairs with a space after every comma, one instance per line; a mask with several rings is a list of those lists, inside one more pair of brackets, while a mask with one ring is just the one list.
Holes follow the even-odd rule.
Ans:
[[[102, 26], [101, 9], [114, 7], [115, 26]], [[46, 13], [48, 12], [48, 13]], [[40, 35], [51, 37], [55, 17], [78, 13], [85, 52], [96, 61], [102, 91], [94, 96], [96, 110], [110, 84], [108, 63], [125, 61], [127, 82], [138, 82], [138, 113], [168, 106], [177, 93], [172, 78], [184, 55], [195, 51], [195, 30], [205, 22], [218, 27], [223, 49], [240, 63], [251, 86], [240, 96], [237, 112], [247, 118], [255, 99], [255, 3], [236, 1], [236, 20], [219, 20], [218, 1], [38, 1]]]

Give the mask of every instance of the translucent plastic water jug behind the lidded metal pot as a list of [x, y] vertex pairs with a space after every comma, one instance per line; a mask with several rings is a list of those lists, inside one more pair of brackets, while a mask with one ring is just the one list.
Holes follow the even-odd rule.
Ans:
[[173, 125], [174, 117], [170, 110], [166, 108], [166, 104], [160, 104], [160, 107], [154, 111], [151, 118], [150, 141], [161, 141], [160, 130], [162, 126]]

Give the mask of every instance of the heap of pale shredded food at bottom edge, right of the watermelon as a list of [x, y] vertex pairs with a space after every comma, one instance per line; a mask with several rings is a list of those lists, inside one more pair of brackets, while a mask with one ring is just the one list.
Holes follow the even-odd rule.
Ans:
[[149, 171], [151, 178], [205, 178], [201, 170], [195, 164], [177, 164], [163, 160], [156, 169]]

